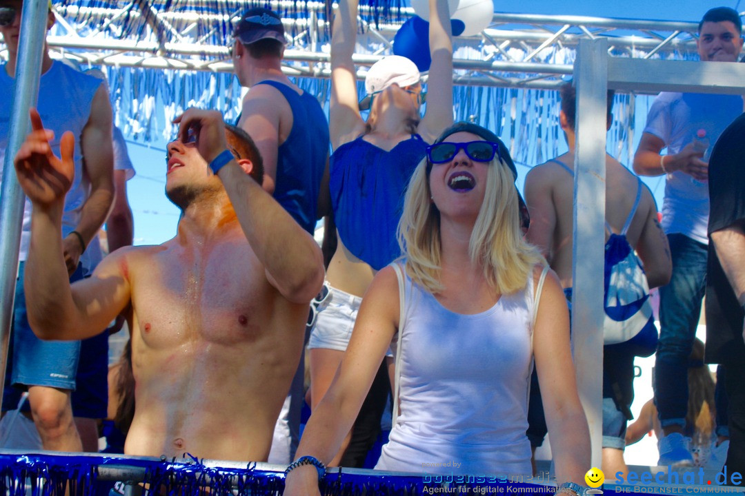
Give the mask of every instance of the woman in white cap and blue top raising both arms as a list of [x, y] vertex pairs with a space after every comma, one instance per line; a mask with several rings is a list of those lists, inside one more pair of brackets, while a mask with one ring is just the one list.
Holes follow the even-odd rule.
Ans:
[[[339, 366], [362, 295], [373, 276], [393, 262], [401, 251], [396, 242], [403, 196], [416, 164], [428, 143], [453, 121], [452, 42], [447, 2], [430, 0], [429, 47], [432, 64], [428, 77], [428, 103], [419, 115], [422, 82], [419, 70], [405, 57], [384, 57], [367, 73], [367, 121], [360, 114], [357, 77], [352, 54], [357, 30], [356, 0], [339, 1], [332, 32], [332, 95], [329, 134], [329, 190], [337, 228], [337, 250], [329, 263], [328, 297], [320, 307], [308, 341], [311, 365], [311, 409], [316, 408]], [[373, 389], [367, 415], [376, 426], [388, 393], [387, 381]], [[376, 418], [375, 418], [376, 417]], [[364, 429], [358, 426], [359, 431]], [[372, 437], [374, 442], [375, 436]], [[332, 465], [339, 465], [349, 444], [346, 437]], [[359, 465], [367, 448], [355, 441], [343, 463]], [[352, 460], [355, 459], [355, 460]]]

